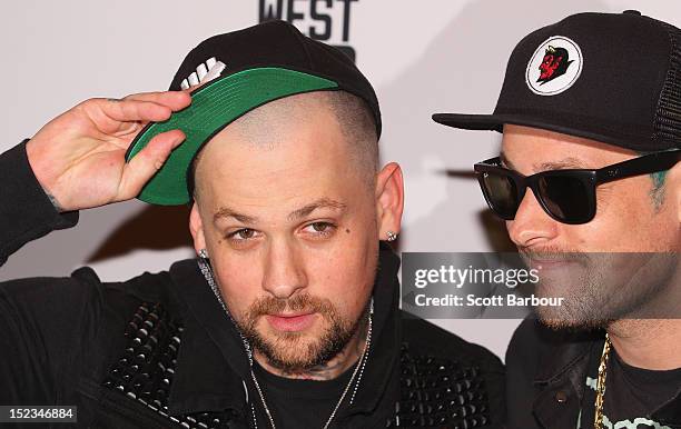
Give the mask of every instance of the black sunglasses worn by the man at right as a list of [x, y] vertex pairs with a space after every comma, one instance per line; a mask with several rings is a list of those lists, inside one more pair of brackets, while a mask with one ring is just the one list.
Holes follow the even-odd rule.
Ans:
[[595, 188], [632, 176], [671, 169], [681, 160], [681, 149], [644, 154], [598, 170], [549, 170], [532, 176], [501, 167], [499, 157], [475, 164], [477, 180], [490, 208], [502, 219], [513, 220], [527, 188], [549, 216], [559, 222], [580, 225], [596, 212]]

